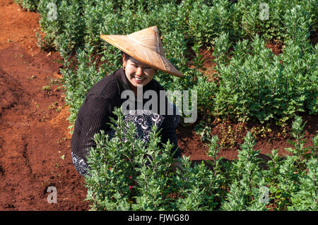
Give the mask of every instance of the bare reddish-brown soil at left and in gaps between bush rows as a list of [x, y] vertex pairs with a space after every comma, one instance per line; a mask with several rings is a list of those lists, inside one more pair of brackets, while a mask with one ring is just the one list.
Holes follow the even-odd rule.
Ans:
[[[53, 61], [61, 56], [37, 47], [39, 14], [2, 0], [0, 15], [0, 210], [87, 210], [84, 179], [71, 161], [69, 111], [64, 107], [63, 90], [58, 88], [62, 65]], [[211, 53], [205, 54], [213, 59]], [[43, 90], [47, 85], [49, 90]], [[310, 146], [318, 116], [303, 118], [307, 121], [305, 146]], [[242, 144], [247, 130], [260, 125], [215, 119], [211, 126], [211, 134], [228, 145], [220, 156], [235, 159], [237, 144]], [[283, 147], [290, 147], [285, 140], [291, 137], [278, 136], [282, 132], [278, 126], [270, 128], [266, 137], [257, 135], [256, 149], [263, 156], [273, 148], [285, 154]], [[178, 127], [177, 136], [185, 155], [194, 161], [208, 159], [193, 126]], [[230, 149], [231, 140], [237, 144]], [[56, 204], [47, 202], [49, 186], [57, 188]]]

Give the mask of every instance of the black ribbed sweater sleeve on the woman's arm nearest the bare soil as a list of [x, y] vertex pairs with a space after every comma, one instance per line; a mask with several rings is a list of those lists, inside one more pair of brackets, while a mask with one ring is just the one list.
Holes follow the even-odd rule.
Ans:
[[[83, 124], [81, 128], [81, 136], [79, 138], [78, 151], [81, 155], [88, 156], [90, 147], [96, 147], [93, 140], [95, 133], [100, 130], [109, 130], [110, 116], [112, 115], [112, 101], [105, 97], [89, 95], [86, 98], [83, 109]], [[87, 159], [85, 159], [87, 161]]]

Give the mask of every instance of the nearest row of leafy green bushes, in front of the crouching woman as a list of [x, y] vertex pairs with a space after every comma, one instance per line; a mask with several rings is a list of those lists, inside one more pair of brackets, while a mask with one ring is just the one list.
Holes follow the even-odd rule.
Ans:
[[[150, 142], [136, 139], [132, 123], [126, 128], [120, 109], [112, 126], [116, 135], [96, 134], [86, 176], [87, 199], [93, 210], [317, 210], [318, 135], [313, 147], [303, 147], [302, 119], [295, 117], [292, 155], [268, 154], [268, 162], [254, 150], [247, 133], [232, 162], [218, 157], [214, 135], [208, 141], [211, 160], [191, 165], [189, 157], [174, 160], [168, 142], [160, 148], [159, 132], [153, 127]], [[124, 135], [126, 130], [126, 135]], [[149, 160], [149, 159], [152, 160]]]

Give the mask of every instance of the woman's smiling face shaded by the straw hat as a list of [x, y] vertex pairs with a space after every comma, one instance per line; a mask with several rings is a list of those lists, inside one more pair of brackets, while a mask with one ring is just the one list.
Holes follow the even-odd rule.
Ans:
[[122, 56], [122, 66], [124, 68], [126, 78], [129, 80], [131, 90], [136, 90], [137, 85], [146, 85], [155, 75], [155, 69], [140, 61], [130, 57], [125, 59], [126, 55]]

